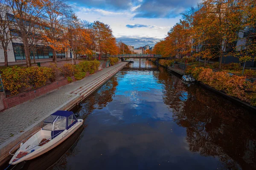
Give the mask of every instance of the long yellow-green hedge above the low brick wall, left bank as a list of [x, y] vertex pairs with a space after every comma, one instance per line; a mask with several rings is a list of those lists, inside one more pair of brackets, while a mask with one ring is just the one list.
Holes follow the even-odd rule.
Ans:
[[[100, 62], [83, 61], [78, 65], [64, 64], [61, 68], [55, 67], [8, 67], [3, 70], [2, 80], [4, 88], [11, 92], [11, 95], [19, 94], [25, 91], [31, 85], [33, 88], [39, 88], [47, 84], [47, 81], [54, 82], [57, 71], [61, 71], [64, 77], [75, 76], [76, 80], [83, 79], [86, 72], [94, 74], [98, 70]], [[70, 79], [68, 79], [71, 82]]]

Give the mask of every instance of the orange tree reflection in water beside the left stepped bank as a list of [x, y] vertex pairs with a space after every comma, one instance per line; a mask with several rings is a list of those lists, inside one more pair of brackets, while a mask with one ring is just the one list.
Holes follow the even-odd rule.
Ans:
[[102, 109], [108, 105], [109, 102], [112, 102], [117, 85], [117, 77], [114, 76], [81, 104], [80, 115], [87, 115], [94, 109]]

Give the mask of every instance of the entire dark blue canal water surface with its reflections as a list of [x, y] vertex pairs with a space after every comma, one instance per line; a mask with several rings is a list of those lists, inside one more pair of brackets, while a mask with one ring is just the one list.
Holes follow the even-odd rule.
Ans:
[[52, 170], [256, 169], [255, 113], [145, 59], [76, 112], [84, 119], [78, 136], [26, 169], [45, 168], [42, 159], [56, 163]]

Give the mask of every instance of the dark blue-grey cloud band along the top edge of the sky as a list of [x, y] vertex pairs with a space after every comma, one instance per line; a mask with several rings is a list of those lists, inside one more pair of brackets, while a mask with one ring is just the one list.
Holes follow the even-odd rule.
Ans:
[[[133, 18], [174, 18], [202, 0], [75, 0], [79, 7], [99, 9], [103, 14], [130, 13]], [[78, 5], [79, 4], [79, 5]]]

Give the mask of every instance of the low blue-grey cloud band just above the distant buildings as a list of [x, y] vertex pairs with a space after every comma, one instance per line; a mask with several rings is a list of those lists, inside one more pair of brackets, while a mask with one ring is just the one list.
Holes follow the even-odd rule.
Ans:
[[156, 37], [139, 37], [139, 36], [122, 36], [116, 38], [116, 41], [124, 42], [127, 45], [134, 45], [135, 48], [145, 46], [145, 45], [150, 45], [150, 47], [154, 46], [155, 43], [159, 42], [161, 39], [156, 38]]

